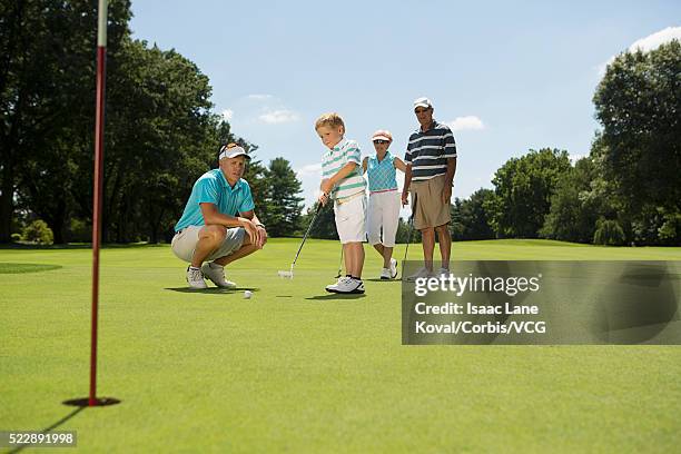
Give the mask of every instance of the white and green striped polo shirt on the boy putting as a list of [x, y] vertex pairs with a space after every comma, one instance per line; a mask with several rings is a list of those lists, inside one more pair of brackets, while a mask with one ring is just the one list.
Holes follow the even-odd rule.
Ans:
[[330, 197], [334, 200], [343, 201], [365, 191], [366, 181], [362, 177], [362, 160], [359, 147], [355, 140], [342, 139], [333, 150], [328, 150], [322, 158], [322, 178], [330, 178], [338, 172], [346, 164], [355, 162], [357, 167], [347, 177], [340, 180]]

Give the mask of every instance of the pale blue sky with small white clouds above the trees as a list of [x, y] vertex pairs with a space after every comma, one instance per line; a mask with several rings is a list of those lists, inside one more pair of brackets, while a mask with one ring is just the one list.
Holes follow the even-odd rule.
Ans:
[[340, 114], [364, 156], [373, 131], [388, 129], [389, 150], [404, 157], [413, 100], [428, 97], [454, 131], [453, 195], [466, 198], [530, 149], [589, 155], [608, 62], [681, 40], [679, 1], [132, 0], [132, 13], [135, 39], [177, 50], [210, 78], [215, 111], [258, 159], [290, 161], [307, 206], [324, 112]]

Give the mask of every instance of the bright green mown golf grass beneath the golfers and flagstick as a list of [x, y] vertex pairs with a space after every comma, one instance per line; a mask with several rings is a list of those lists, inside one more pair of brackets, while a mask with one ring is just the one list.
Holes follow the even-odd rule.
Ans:
[[[98, 395], [91, 250], [0, 249], [0, 430], [77, 431], [65, 452], [673, 452], [678, 346], [402, 346], [401, 284], [333, 295], [338, 241], [272, 239], [188, 290], [167, 245], [101, 253]], [[395, 250], [402, 260], [404, 245]], [[409, 257], [420, 258], [420, 245]], [[454, 259], [681, 260], [681, 248], [467, 241]], [[17, 264], [17, 265], [7, 265]], [[19, 269], [18, 272], [12, 270]], [[244, 290], [253, 290], [245, 299]], [[51, 452], [51, 451], [50, 451]]]

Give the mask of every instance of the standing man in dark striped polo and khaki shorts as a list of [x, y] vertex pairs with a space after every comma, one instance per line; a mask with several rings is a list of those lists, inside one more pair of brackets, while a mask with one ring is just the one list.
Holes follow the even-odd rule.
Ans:
[[433, 103], [428, 98], [414, 101], [418, 129], [409, 136], [404, 157], [406, 172], [402, 204], [412, 193], [415, 209], [414, 228], [421, 231], [424, 267], [409, 278], [433, 276], [435, 231], [440, 239], [442, 267], [440, 274], [450, 273], [452, 236], [450, 235], [450, 199], [456, 172], [456, 144], [448, 126], [435, 121]]

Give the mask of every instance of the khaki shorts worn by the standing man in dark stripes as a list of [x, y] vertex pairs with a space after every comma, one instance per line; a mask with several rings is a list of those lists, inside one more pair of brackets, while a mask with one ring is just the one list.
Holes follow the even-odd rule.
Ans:
[[444, 185], [444, 175], [425, 181], [412, 181], [412, 198], [416, 196], [415, 229], [440, 227], [452, 220], [450, 205], [442, 203]]

